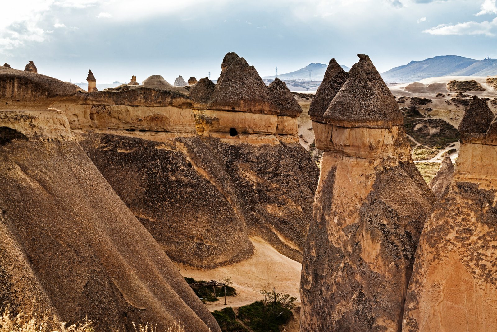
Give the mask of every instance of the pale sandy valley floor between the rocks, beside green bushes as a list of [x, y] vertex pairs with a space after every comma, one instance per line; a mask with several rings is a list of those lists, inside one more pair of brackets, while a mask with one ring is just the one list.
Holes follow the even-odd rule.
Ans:
[[296, 305], [300, 305], [299, 284], [302, 264], [296, 262], [274, 249], [259, 237], [251, 237], [254, 245], [253, 256], [240, 263], [222, 266], [212, 270], [195, 269], [190, 266], [178, 265], [184, 277], [195, 280], [221, 280], [225, 276], [231, 277], [237, 296], [228, 296], [227, 304], [224, 298], [216, 302], [206, 303], [210, 311], [225, 307], [241, 307], [246, 304], [260, 301], [262, 289], [272, 290], [282, 294], [291, 294], [297, 297]]

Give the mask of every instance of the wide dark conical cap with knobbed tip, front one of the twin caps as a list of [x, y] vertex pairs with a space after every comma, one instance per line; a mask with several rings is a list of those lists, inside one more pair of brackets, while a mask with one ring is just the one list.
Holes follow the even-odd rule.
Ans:
[[390, 128], [404, 124], [402, 112], [367, 55], [358, 54], [349, 77], [323, 118], [345, 127]]

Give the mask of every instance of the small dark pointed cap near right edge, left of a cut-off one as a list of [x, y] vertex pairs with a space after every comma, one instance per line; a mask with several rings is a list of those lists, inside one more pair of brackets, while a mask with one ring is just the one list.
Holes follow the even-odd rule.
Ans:
[[486, 132], [493, 119], [487, 102], [474, 96], [457, 129], [463, 134]]

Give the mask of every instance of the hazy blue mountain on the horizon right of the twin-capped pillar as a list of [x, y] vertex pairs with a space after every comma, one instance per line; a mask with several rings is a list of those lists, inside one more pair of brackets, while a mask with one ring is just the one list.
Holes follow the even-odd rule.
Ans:
[[439, 76], [497, 75], [497, 60], [475, 60], [457, 55], [441, 55], [390, 69], [381, 74], [385, 82], [407, 83]]

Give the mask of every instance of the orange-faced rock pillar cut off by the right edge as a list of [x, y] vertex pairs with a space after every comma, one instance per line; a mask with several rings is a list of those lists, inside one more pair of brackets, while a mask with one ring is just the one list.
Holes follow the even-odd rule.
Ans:
[[497, 326], [497, 123], [485, 130], [487, 122], [485, 111], [475, 115], [472, 108], [461, 122], [465, 133], [452, 183], [419, 240], [402, 331]]

